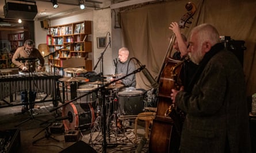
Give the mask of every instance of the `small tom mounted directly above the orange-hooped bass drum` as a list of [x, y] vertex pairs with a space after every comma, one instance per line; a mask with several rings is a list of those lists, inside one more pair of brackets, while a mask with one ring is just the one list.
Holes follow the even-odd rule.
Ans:
[[[95, 84], [83, 84], [80, 85], [77, 89], [77, 97], [80, 97], [82, 95], [85, 95], [86, 93], [93, 91], [93, 89], [97, 88], [97, 85]], [[83, 103], [92, 103], [96, 101], [97, 99], [97, 92], [89, 93], [86, 96], [81, 97], [77, 100], [77, 103], [83, 104]]]

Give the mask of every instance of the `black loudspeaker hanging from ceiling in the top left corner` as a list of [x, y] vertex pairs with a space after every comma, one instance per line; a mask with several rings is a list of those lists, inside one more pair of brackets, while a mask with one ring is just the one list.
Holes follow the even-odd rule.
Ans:
[[37, 6], [23, 3], [7, 2], [3, 6], [5, 18], [34, 19], [37, 14]]

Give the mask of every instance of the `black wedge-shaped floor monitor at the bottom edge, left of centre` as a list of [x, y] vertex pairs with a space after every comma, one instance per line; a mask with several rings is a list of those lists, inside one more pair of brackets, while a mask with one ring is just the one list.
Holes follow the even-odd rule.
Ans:
[[89, 144], [86, 144], [83, 141], [76, 142], [72, 144], [70, 147], [67, 147], [63, 151], [60, 151], [59, 153], [70, 153], [70, 152], [76, 152], [76, 153], [97, 153], [97, 151], [94, 150], [93, 147], [89, 146]]

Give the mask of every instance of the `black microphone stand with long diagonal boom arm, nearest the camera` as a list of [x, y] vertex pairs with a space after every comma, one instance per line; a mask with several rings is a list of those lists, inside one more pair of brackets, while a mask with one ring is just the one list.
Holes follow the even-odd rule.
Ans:
[[[59, 109], [59, 108], [65, 106], [65, 105], [67, 105], [67, 104], [70, 104], [72, 101], [81, 99], [82, 97], [84, 97], [84, 96], [86, 96], [86, 95], [89, 95], [90, 93], [94, 93], [94, 92], [99, 91], [99, 90], [105, 91], [105, 87], [108, 87], [110, 84], [113, 84], [113, 83], [115, 83], [116, 81], [122, 80], [122, 79], [124, 79], [125, 77], [130, 76], [131, 74], [136, 74], [136, 73], [140, 72], [141, 70], [143, 70], [144, 68], [145, 68], [144, 66], [140, 66], [140, 68], [134, 70], [133, 72], [127, 74], [126, 76], [120, 77], [119, 79], [114, 80], [114, 81], [110, 81], [109, 83], [104, 84], [104, 85], [102, 85], [101, 87], [95, 88], [95, 89], [93, 89], [93, 90], [91, 90], [91, 91], [85, 93], [85, 94], [82, 95], [82, 96], [79, 96], [79, 97], [77, 97], [77, 98], [75, 98], [75, 99], [72, 99], [72, 100], [70, 100], [70, 101], [67, 101], [67, 102], [64, 103], [64, 104], [59, 105], [58, 107], [55, 107], [54, 109], [49, 110], [49, 112], [56, 111], [57, 109]], [[103, 146], [103, 152], [105, 153], [105, 152], [106, 152], [107, 143], [106, 143], [106, 115], [105, 115], [105, 113], [106, 113], [106, 108], [105, 108], [105, 97], [104, 97], [104, 96], [105, 96], [105, 93], [104, 93], [104, 95], [102, 96], [102, 97], [103, 97], [102, 103], [104, 103], [104, 104], [102, 104], [102, 105], [103, 105], [103, 114], [102, 114], [102, 116], [103, 116], [103, 122], [102, 122], [102, 125], [103, 125], [103, 139], [104, 139], [103, 142], [102, 142], [102, 146]], [[104, 110], [104, 109], [105, 109], [105, 110]]]

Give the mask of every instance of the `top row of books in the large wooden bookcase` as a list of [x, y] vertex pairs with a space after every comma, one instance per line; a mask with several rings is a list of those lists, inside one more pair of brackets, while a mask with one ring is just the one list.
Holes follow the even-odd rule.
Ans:
[[77, 23], [74, 26], [74, 32], [72, 25], [60, 26], [50, 29], [52, 36], [64, 36], [68, 34], [85, 33], [85, 23]]

